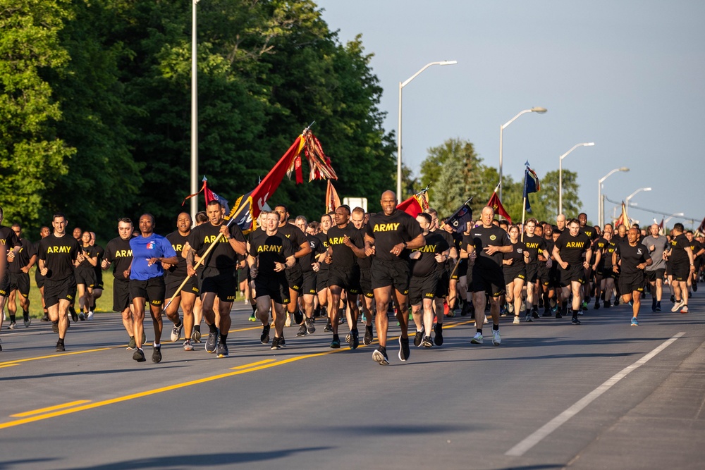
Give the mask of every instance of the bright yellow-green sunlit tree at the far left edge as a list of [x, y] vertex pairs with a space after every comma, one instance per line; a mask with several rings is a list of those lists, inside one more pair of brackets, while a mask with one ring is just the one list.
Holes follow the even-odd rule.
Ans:
[[61, 109], [42, 70], [61, 70], [68, 0], [0, 0], [0, 199], [8, 221], [36, 227], [75, 149], [56, 135]]

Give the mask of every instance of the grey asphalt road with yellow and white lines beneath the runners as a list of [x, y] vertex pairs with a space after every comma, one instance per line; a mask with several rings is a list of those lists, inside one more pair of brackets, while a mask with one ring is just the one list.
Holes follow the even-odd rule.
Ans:
[[3, 330], [0, 469], [701, 468], [704, 298], [649, 300], [638, 327], [625, 306], [508, 317], [499, 347], [455, 317], [405, 363], [390, 341], [389, 366], [375, 343], [331, 350], [321, 321], [271, 351], [242, 304], [228, 359], [166, 342], [138, 364], [117, 314], [73, 325], [64, 353], [47, 323]]

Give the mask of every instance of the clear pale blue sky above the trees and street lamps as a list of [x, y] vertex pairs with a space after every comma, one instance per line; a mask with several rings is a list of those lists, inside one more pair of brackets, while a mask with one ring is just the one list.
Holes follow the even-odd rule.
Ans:
[[[403, 159], [419, 174], [427, 149], [449, 137], [473, 142], [488, 165], [522, 178], [528, 159], [539, 176], [575, 171], [589, 219], [597, 183], [610, 199], [685, 212], [695, 227], [705, 149], [705, 1], [318, 0], [341, 42], [362, 34], [384, 88], [385, 128], [396, 130], [398, 83], [432, 61], [403, 91]], [[557, 188], [544, 187], [553, 191]], [[368, 195], [372, 196], [372, 195]], [[557, 195], [556, 195], [557, 197]], [[634, 207], [642, 225], [661, 216]], [[606, 217], [613, 204], [606, 204]], [[568, 214], [570, 215], [570, 214]], [[670, 221], [672, 225], [678, 218]], [[686, 223], [690, 225], [689, 222]]]

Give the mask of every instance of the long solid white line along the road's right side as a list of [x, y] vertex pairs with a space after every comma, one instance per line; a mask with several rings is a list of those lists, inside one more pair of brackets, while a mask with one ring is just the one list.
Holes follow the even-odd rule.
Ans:
[[572, 404], [572, 406], [566, 409], [563, 413], [551, 419], [551, 421], [548, 421], [548, 423], [544, 424], [544, 426], [541, 426], [541, 428], [537, 429], [537, 431], [534, 431], [534, 433], [530, 434], [527, 438], [525, 438], [525, 440], [522, 440], [520, 443], [505, 452], [505, 455], [509, 455], [512, 457], [521, 457], [522, 455], [524, 455], [528, 450], [534, 447], [534, 445], [540, 443], [541, 440], [546, 438], [549, 434], [553, 433], [553, 431], [556, 431], [556, 429], [563, 425], [563, 423], [578, 414], [582, 409], [584, 409], [584, 407], [587, 407], [587, 405], [593, 402], [593, 400], [595, 400], [604, 392], [612, 388], [613, 385], [615, 385], [620, 380], [629, 375], [630, 372], [635, 371], [639, 367], [646, 364], [649, 359], [652, 359], [654, 356], [656, 356], [656, 354], [665, 350], [666, 347], [672, 345], [673, 342], [675, 342], [675, 340], [678, 340], [678, 338], [680, 338], [682, 335], [685, 335], [685, 332], [680, 332], [677, 335], [673, 336], [673, 338], [666, 340], [665, 342], [661, 343], [661, 345], [656, 347], [656, 349], [649, 352], [649, 354], [646, 354], [646, 356], [642, 357], [642, 359], [639, 359], [631, 366], [627, 366], [618, 373], [615, 373], [615, 375], [609, 378], [598, 388], [589, 392], [587, 395], [575, 402], [575, 404]]

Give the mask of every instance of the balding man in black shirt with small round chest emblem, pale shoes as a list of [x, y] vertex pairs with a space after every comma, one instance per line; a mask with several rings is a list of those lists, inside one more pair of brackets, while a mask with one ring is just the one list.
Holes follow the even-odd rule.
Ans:
[[501, 296], [505, 292], [502, 259], [505, 253], [512, 251], [507, 233], [492, 223], [494, 209], [485, 206], [482, 209], [480, 225], [470, 230], [462, 240], [460, 257], [474, 254], [472, 266], [472, 303], [475, 307], [475, 329], [477, 330], [470, 342], [482, 345], [482, 325], [485, 319], [486, 292], [489, 292], [490, 314], [492, 316], [492, 344], [501, 345], [499, 334], [499, 307]]

